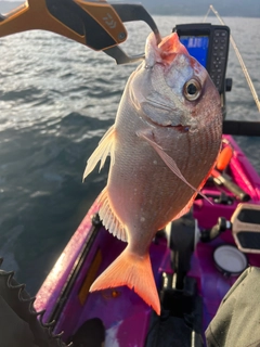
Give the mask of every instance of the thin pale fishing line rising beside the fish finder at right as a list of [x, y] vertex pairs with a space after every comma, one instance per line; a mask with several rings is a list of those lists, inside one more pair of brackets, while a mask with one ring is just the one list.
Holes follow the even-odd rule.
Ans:
[[[214, 13], [214, 15], [217, 16], [217, 18], [219, 20], [219, 22], [220, 22], [222, 25], [225, 25], [224, 21], [220, 17], [218, 11], [216, 11], [216, 9], [213, 8], [212, 4], [210, 4], [208, 12], [207, 12], [207, 14], [205, 15], [205, 17], [204, 17], [204, 20], [203, 20], [203, 23], [205, 23], [205, 21], [206, 21], [206, 18], [208, 17], [210, 11], [212, 11], [212, 12]], [[255, 89], [255, 87], [253, 87], [252, 80], [251, 80], [251, 78], [250, 78], [250, 76], [249, 76], [249, 73], [248, 73], [248, 70], [247, 70], [246, 64], [245, 64], [244, 61], [243, 61], [243, 57], [242, 57], [242, 55], [240, 55], [240, 52], [239, 52], [239, 50], [238, 50], [238, 48], [237, 48], [237, 46], [236, 46], [236, 43], [235, 43], [235, 40], [233, 39], [232, 35], [230, 36], [230, 40], [231, 40], [231, 44], [233, 46], [233, 49], [234, 49], [234, 51], [235, 51], [235, 53], [236, 53], [236, 56], [237, 56], [237, 59], [238, 59], [238, 62], [239, 62], [239, 64], [240, 64], [242, 70], [243, 70], [243, 73], [244, 73], [244, 75], [245, 75], [245, 78], [246, 78], [246, 80], [247, 80], [248, 87], [249, 87], [249, 89], [250, 89], [250, 91], [251, 91], [252, 98], [253, 98], [253, 100], [255, 100], [255, 102], [256, 102], [256, 104], [257, 104], [258, 111], [260, 112], [260, 100], [259, 100], [259, 98], [258, 98], [257, 91], [256, 91], [256, 89]]]

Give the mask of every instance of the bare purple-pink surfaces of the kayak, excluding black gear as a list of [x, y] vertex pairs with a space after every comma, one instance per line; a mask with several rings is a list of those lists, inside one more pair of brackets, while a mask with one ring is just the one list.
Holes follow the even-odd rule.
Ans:
[[[224, 139], [234, 151], [229, 175], [250, 195], [250, 202], [259, 204], [258, 174], [233, 138], [225, 136]], [[209, 183], [203, 192], [213, 204], [203, 198], [194, 202], [193, 217], [197, 220], [200, 230], [212, 228], [219, 217], [230, 220], [240, 203], [234, 194], [222, 187], [220, 189]], [[69, 342], [87, 320], [100, 318], [106, 331], [105, 346], [144, 346], [155, 313], [133, 291], [122, 286], [89, 293], [94, 279], [126, 247], [126, 243], [104, 229], [96, 213], [95, 202], [42, 284], [37, 294], [35, 307], [37, 310], [46, 309], [44, 322], [55, 320], [54, 333], [64, 331], [65, 342]], [[176, 232], [178, 233], [178, 230]], [[195, 281], [196, 297], [202, 299], [202, 332], [206, 330], [223, 296], [238, 277], [238, 274], [226, 277], [216, 267], [213, 252], [222, 244], [235, 245], [231, 231], [222, 232], [209, 243], [198, 242], [191, 256], [190, 270], [186, 273], [186, 279]], [[150, 254], [155, 281], [160, 291], [164, 274], [173, 275], [172, 254], [166, 234], [161, 233], [155, 237]], [[248, 264], [260, 266], [260, 255], [247, 254], [246, 256]], [[178, 293], [182, 295], [182, 292]], [[162, 292], [160, 296], [164, 297]]]

